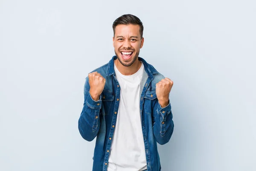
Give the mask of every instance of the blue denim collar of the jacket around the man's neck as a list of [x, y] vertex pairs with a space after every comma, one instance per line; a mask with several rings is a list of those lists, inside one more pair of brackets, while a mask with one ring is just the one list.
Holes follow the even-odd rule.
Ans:
[[[113, 56], [112, 59], [108, 62], [108, 69], [107, 69], [107, 75], [106, 76], [111, 76], [115, 73], [114, 70], [114, 60], [117, 59], [117, 56]], [[148, 74], [148, 77], [153, 80], [154, 76], [153, 74], [158, 73], [156, 69], [150, 64], [148, 64], [143, 58], [138, 57], [139, 61], [143, 62], [144, 68], [146, 73]]]

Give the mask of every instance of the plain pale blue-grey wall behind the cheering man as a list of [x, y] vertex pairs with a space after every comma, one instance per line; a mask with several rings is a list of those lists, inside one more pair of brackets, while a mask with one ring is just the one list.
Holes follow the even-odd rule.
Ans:
[[174, 81], [163, 171], [255, 171], [253, 0], [0, 0], [0, 171], [90, 171], [78, 119], [87, 74], [134, 14], [140, 56]]

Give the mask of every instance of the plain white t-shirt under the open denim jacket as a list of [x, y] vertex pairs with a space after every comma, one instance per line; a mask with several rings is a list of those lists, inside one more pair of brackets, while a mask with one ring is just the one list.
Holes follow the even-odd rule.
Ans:
[[140, 69], [130, 76], [122, 75], [114, 65], [120, 86], [120, 100], [108, 171], [143, 171], [147, 168], [145, 146], [140, 119]]

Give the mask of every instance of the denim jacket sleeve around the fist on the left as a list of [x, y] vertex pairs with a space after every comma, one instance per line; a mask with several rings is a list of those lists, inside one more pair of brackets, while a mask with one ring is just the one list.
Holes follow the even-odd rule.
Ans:
[[100, 96], [98, 101], [94, 101], [89, 90], [89, 79], [86, 77], [84, 84], [84, 107], [78, 121], [78, 128], [85, 140], [92, 141], [99, 132], [102, 98]]

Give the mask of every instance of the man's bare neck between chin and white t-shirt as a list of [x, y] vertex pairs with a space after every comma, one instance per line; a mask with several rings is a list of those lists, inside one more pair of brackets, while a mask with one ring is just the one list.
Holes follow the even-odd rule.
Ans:
[[125, 67], [123, 66], [118, 59], [114, 60], [115, 64], [116, 64], [116, 68], [119, 70], [119, 72], [122, 74], [122, 75], [125, 75], [125, 76], [130, 76], [134, 73], [136, 73], [140, 67], [141, 67], [141, 62], [139, 61], [139, 59], [137, 59], [131, 66], [129, 67]]

